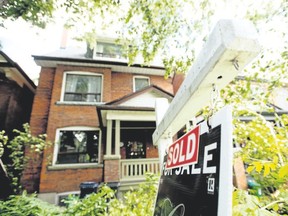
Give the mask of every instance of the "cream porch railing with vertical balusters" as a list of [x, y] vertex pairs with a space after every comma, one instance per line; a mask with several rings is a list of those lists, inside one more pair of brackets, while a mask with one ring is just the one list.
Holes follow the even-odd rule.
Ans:
[[160, 173], [158, 158], [125, 159], [120, 161], [120, 181], [144, 180], [145, 173]]

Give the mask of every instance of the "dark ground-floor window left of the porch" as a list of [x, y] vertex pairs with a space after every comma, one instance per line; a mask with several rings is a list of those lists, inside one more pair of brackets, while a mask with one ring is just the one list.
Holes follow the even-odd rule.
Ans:
[[59, 129], [54, 164], [98, 163], [100, 141], [99, 130]]

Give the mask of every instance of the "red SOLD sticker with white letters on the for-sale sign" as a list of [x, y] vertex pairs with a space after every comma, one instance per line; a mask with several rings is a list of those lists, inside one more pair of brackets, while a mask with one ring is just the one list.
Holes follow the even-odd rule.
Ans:
[[166, 169], [198, 162], [200, 126], [186, 133], [168, 149]]

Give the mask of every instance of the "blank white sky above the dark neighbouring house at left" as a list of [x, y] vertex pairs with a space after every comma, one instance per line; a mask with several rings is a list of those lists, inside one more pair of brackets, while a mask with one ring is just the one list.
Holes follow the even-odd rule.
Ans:
[[40, 67], [34, 62], [32, 55], [46, 54], [60, 48], [62, 25], [49, 24], [39, 29], [17, 20], [7, 22], [6, 28], [0, 28], [0, 41], [3, 51], [35, 81]]

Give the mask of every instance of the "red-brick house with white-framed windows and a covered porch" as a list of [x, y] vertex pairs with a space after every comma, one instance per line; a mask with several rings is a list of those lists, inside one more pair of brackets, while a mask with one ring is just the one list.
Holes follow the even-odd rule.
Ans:
[[[120, 48], [106, 40], [90, 52], [34, 56], [41, 72], [31, 131], [47, 134], [53, 145], [41, 174], [35, 179], [26, 170], [23, 182], [41, 199], [57, 204], [91, 181], [120, 183], [121, 191], [143, 181], [146, 171], [159, 172], [154, 106], [156, 98], [173, 99], [172, 79], [163, 67], [128, 66]], [[29, 184], [37, 179], [39, 188]]]

